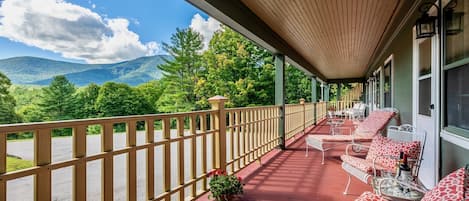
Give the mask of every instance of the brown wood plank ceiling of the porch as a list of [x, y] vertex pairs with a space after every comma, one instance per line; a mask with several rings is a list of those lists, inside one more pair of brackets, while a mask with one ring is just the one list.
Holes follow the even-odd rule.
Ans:
[[328, 79], [364, 77], [399, 0], [241, 0]]

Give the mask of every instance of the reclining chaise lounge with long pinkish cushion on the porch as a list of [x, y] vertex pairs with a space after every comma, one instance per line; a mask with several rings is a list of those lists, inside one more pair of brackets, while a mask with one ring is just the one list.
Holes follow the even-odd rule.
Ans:
[[[353, 132], [350, 127], [333, 128], [348, 131], [348, 134], [346, 135], [308, 135], [305, 137], [306, 156], [308, 156], [309, 147], [317, 149], [322, 152], [321, 164], [324, 164], [324, 155], [326, 151], [341, 144], [371, 142], [373, 137], [379, 134], [393, 117], [397, 120], [397, 124], [400, 124], [398, 110], [394, 108], [384, 108], [371, 112], [363, 122], [357, 124], [357, 127]], [[332, 133], [336, 134], [338, 132], [334, 131]]]

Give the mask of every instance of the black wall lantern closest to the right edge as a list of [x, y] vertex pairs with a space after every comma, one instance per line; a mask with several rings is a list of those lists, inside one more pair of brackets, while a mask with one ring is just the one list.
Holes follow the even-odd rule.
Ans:
[[447, 35], [456, 35], [463, 31], [462, 17], [463, 12], [454, 12], [457, 1], [451, 1], [445, 8], [445, 30]]

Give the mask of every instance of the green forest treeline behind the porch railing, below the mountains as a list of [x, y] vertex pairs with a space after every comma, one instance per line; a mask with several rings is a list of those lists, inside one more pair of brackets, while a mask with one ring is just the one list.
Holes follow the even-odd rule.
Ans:
[[[163, 77], [135, 87], [106, 82], [78, 88], [65, 76], [54, 77], [46, 87], [18, 86], [0, 73], [0, 124], [202, 110], [215, 95], [229, 98], [226, 107], [274, 104], [270, 52], [228, 27], [214, 34], [208, 48], [202, 41], [190, 28], [177, 29], [170, 43], [163, 43], [172, 59], [155, 66]], [[285, 74], [287, 103], [311, 101], [311, 78], [289, 64]], [[54, 131], [61, 135], [71, 135], [71, 130]]]

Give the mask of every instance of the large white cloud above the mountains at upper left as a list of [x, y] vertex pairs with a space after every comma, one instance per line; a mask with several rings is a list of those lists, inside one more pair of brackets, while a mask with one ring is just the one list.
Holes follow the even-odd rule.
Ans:
[[160, 53], [142, 43], [129, 20], [106, 18], [63, 0], [4, 0], [0, 37], [88, 63], [111, 63]]

